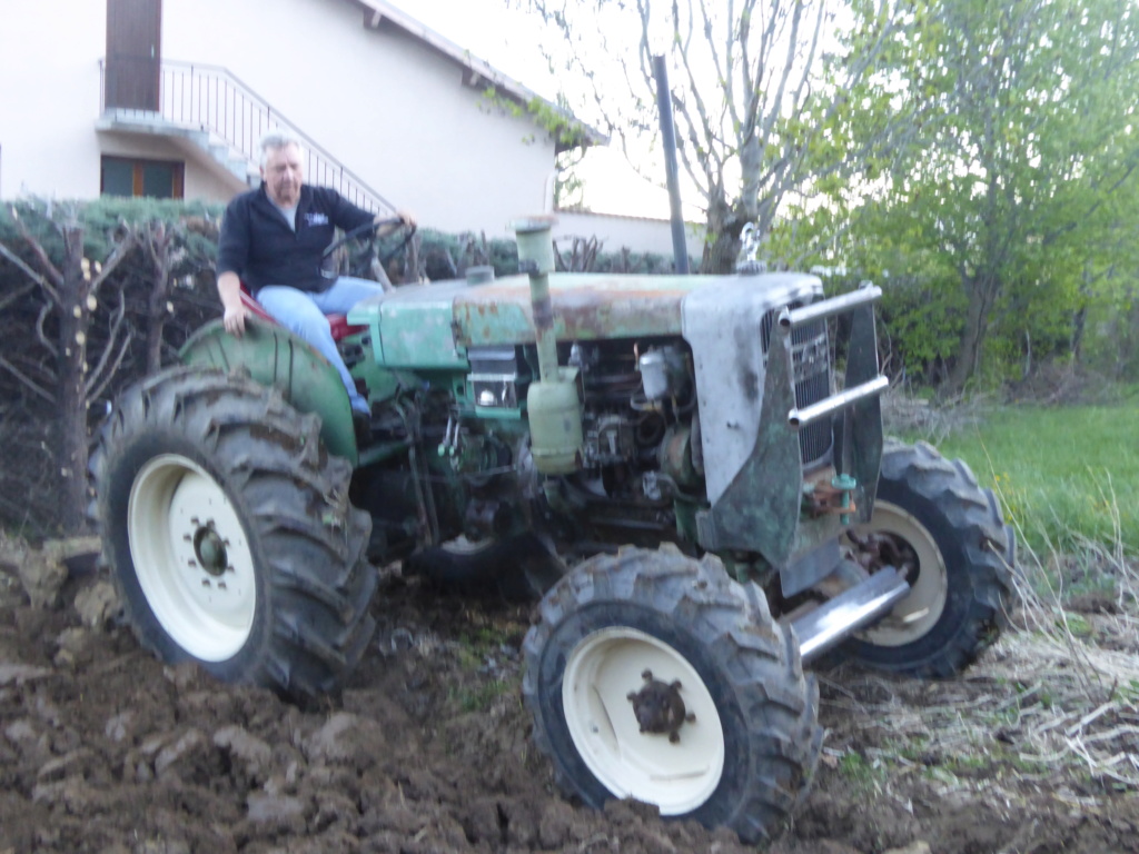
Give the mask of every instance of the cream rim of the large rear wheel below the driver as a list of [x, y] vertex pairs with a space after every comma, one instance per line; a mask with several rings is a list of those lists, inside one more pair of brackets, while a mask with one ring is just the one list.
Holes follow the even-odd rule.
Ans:
[[128, 535], [142, 594], [171, 639], [204, 662], [236, 655], [253, 626], [256, 570], [218, 482], [185, 457], [155, 457], [131, 487]]

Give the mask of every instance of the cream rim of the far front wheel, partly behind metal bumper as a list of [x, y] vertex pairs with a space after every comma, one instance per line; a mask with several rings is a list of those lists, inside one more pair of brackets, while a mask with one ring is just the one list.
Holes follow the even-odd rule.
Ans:
[[878, 623], [857, 635], [878, 647], [901, 647], [924, 638], [941, 619], [949, 598], [949, 573], [941, 549], [925, 525], [896, 504], [876, 501], [869, 525], [855, 533], [891, 534], [909, 543], [918, 557], [917, 578], [910, 592]]

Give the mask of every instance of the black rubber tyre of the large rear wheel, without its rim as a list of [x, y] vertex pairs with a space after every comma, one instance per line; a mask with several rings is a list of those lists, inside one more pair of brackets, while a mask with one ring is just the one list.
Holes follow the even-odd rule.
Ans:
[[129, 553], [116, 561], [109, 545], [126, 523], [112, 518], [108, 493], [115, 485], [106, 478], [124, 446], [149, 436], [188, 442], [208, 460], [223, 488], [240, 496], [260, 568], [269, 576], [272, 627], [264, 648], [240, 670], [226, 663], [203, 666], [223, 680], [298, 699], [342, 687], [375, 629], [368, 605], [377, 578], [363, 557], [371, 520], [349, 502], [352, 467], [323, 450], [320, 419], [297, 412], [279, 392], [248, 377], [185, 366], [148, 377], [120, 396], [91, 458], [89, 512], [103, 535], [103, 560], [114, 570], [128, 623], [144, 647], [169, 660], [189, 656], [161, 642], [147, 607], [124, 594], [121, 576], [133, 567]]

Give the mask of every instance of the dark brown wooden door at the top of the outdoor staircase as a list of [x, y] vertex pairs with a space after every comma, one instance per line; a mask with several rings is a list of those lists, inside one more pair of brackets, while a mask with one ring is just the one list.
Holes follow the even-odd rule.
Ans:
[[105, 106], [157, 112], [162, 0], [107, 0]]

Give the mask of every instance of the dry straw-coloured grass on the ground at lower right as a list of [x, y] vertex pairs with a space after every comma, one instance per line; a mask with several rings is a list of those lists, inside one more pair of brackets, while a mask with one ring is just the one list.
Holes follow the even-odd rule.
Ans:
[[853, 723], [836, 726], [823, 761], [850, 767], [857, 755], [883, 795], [909, 773], [1009, 798], [1063, 779], [1057, 797], [1084, 807], [1139, 790], [1139, 561], [1093, 543], [1083, 559], [1113, 582], [1095, 613], [1067, 603], [1071, 557], [1022, 548], [1013, 627], [956, 680], [826, 681], [826, 705]]

